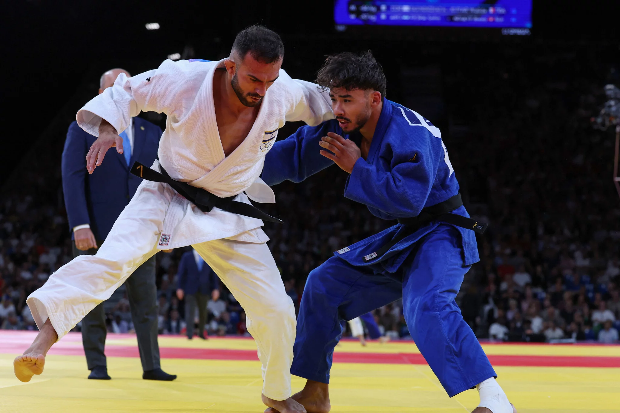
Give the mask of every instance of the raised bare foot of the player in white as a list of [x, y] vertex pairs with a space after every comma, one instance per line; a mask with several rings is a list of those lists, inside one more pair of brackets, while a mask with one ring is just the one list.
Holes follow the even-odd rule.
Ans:
[[45, 365], [45, 355], [52, 344], [58, 339], [56, 330], [48, 319], [43, 324], [41, 331], [35, 337], [35, 341], [32, 342], [29, 349], [25, 350], [23, 355], [15, 357], [13, 361], [13, 369], [15, 371], [15, 377], [19, 381], [30, 381], [33, 375], [43, 373], [43, 366]]

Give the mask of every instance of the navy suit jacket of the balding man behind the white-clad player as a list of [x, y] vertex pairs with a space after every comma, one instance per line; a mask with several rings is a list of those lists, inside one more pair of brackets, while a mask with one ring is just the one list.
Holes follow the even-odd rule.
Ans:
[[[141, 118], [133, 118], [133, 153], [136, 160], [152, 165], [162, 131], [159, 126]], [[69, 217], [69, 231], [82, 224], [91, 225], [97, 240], [105, 240], [118, 215], [136, 193], [141, 178], [129, 173], [125, 156], [115, 147], [106, 152], [104, 162], [92, 174], [86, 170], [86, 154], [97, 139], [85, 132], [77, 122], [71, 123], [63, 150], [64, 206]]]

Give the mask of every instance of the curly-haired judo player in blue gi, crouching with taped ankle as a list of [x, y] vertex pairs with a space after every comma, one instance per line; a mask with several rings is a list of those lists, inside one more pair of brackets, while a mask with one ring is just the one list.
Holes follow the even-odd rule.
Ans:
[[386, 78], [370, 51], [329, 56], [317, 83], [329, 88], [336, 119], [276, 142], [263, 181], [299, 182], [336, 163], [350, 173], [346, 198], [399, 224], [342, 248], [309, 274], [291, 367], [308, 382], [293, 398], [309, 413], [329, 412], [341, 322], [402, 297], [411, 336], [448, 395], [476, 387], [475, 413], [513, 413], [454, 301], [479, 260], [474, 229], [484, 228], [461, 202], [439, 129], [385, 98]]

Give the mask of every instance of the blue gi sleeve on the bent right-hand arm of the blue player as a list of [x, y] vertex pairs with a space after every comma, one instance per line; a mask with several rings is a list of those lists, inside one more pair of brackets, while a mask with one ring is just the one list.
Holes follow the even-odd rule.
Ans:
[[417, 216], [430, 194], [441, 159], [437, 148], [429, 144], [432, 139], [438, 138], [424, 128], [405, 136], [402, 145], [391, 147], [391, 170], [387, 172], [358, 159], [347, 180], [345, 197], [366, 204], [377, 216], [384, 214], [373, 210], [385, 212], [391, 219]]

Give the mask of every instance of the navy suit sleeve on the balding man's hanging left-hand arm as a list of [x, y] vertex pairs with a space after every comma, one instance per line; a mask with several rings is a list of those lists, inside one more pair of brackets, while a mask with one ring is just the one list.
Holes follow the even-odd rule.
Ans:
[[76, 122], [71, 123], [64, 141], [61, 173], [63, 176], [64, 207], [69, 218], [69, 229], [91, 224], [86, 204], [86, 154], [88, 145], [84, 131]]

